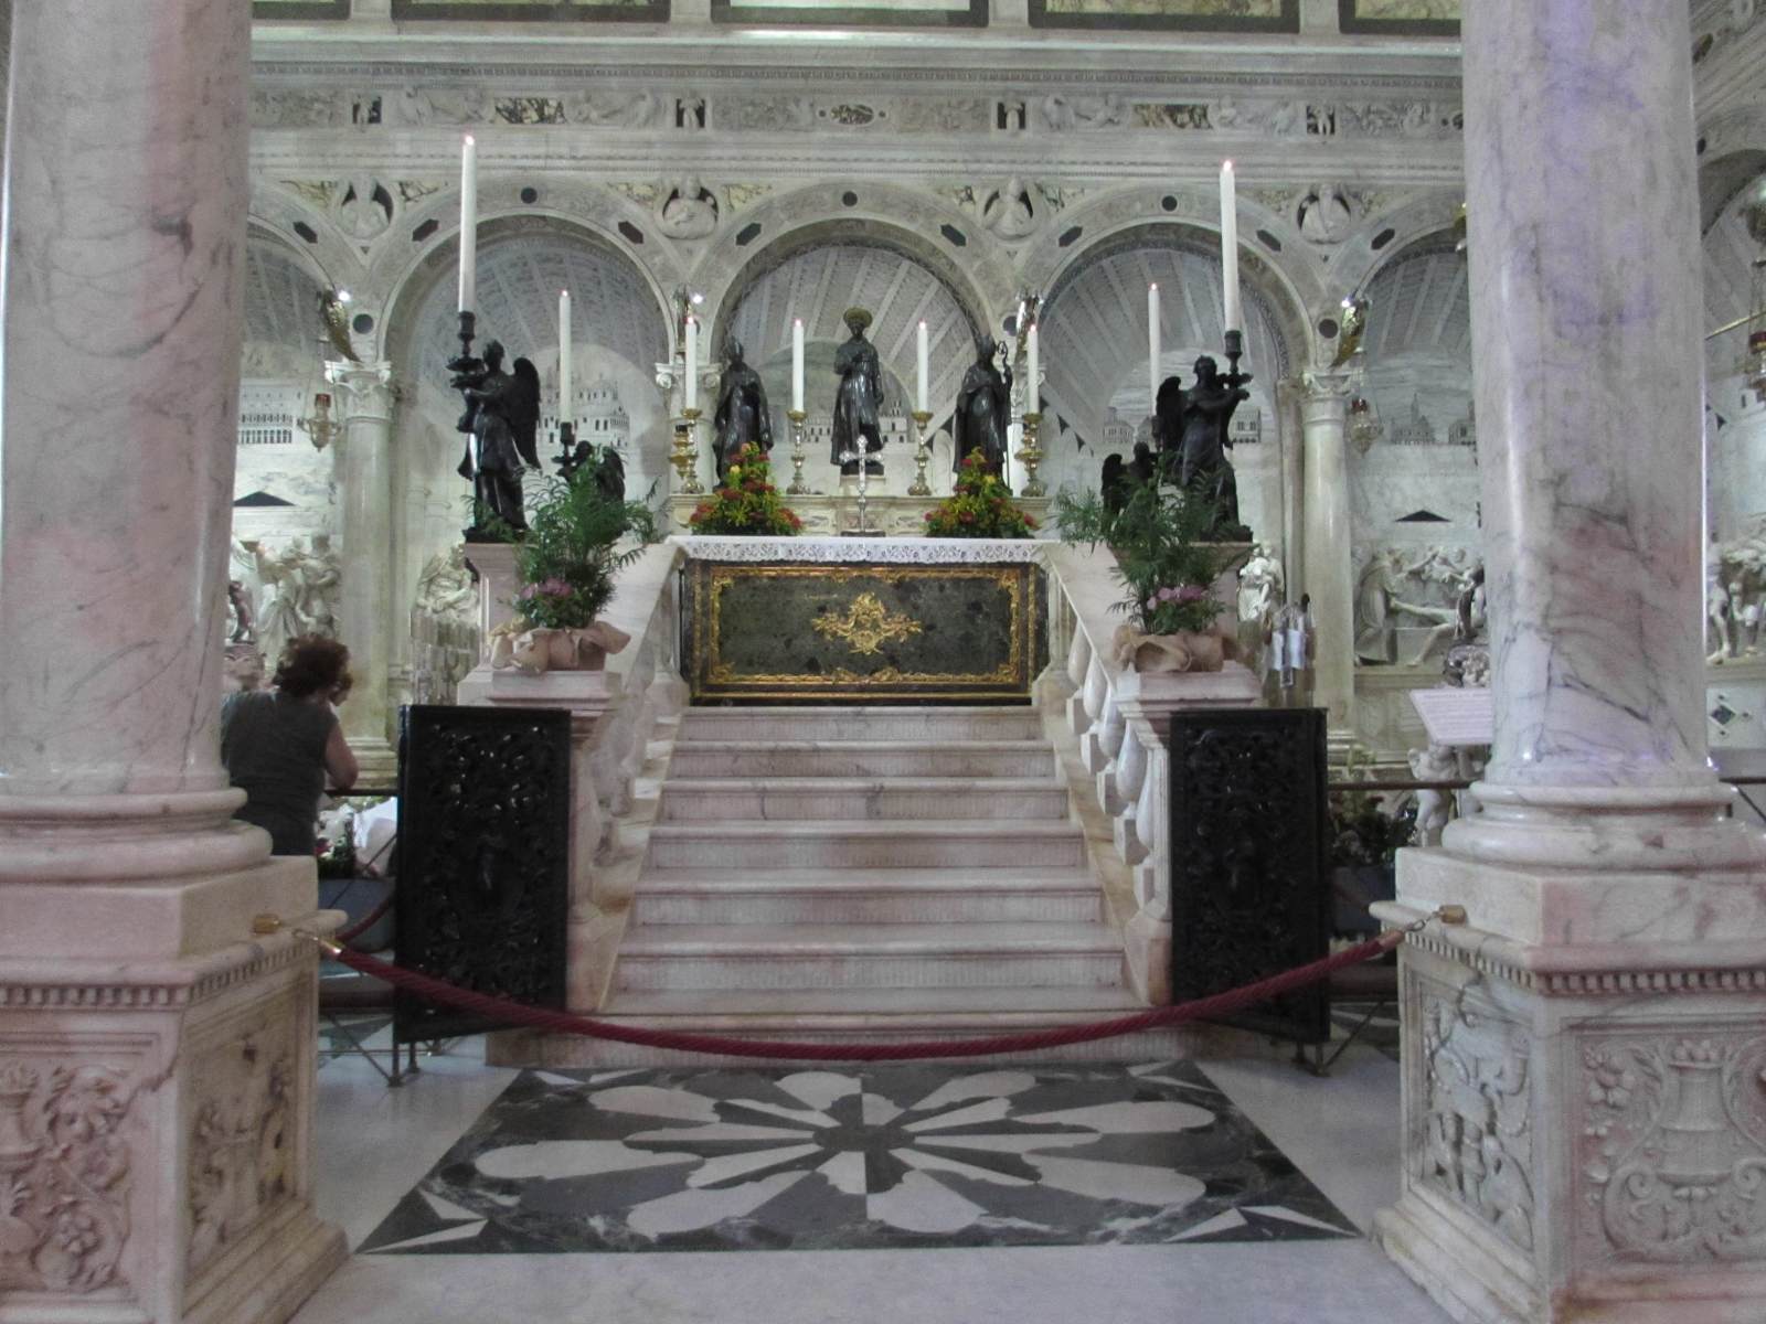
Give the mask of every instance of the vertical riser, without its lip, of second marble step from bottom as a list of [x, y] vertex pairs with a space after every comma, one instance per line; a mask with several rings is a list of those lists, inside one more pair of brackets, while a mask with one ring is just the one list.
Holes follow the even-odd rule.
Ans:
[[[1111, 989], [1121, 952], [768, 953], [765, 957], [623, 952], [616, 987], [682, 989]], [[706, 1012], [715, 1012], [715, 1001]]]

